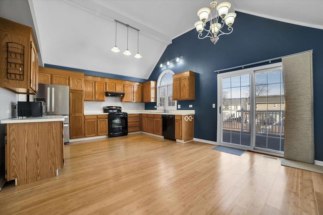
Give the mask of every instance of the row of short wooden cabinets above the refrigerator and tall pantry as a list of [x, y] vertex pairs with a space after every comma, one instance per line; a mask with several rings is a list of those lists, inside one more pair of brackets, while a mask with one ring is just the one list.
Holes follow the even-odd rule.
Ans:
[[70, 90], [84, 89], [84, 73], [39, 66], [39, 84], [65, 85]]

